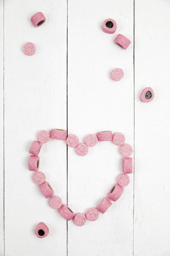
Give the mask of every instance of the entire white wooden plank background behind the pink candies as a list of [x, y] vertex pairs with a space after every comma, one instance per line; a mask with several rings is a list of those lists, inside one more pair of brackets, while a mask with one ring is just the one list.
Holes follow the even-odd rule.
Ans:
[[[47, 21], [33, 27], [41, 11]], [[0, 0], [0, 255], [170, 255], [169, 0]], [[113, 35], [102, 31], [107, 18]], [[131, 39], [126, 51], [113, 43]], [[33, 42], [35, 55], [23, 54]], [[120, 82], [109, 77], [120, 67]], [[140, 101], [151, 86], [155, 99]], [[29, 148], [40, 130], [123, 132], [134, 147], [134, 174], [122, 197], [96, 222], [77, 227], [48, 206], [32, 182]], [[50, 140], [40, 171], [74, 212], [97, 206], [122, 171], [112, 142], [85, 157]], [[49, 235], [38, 239], [39, 222]]]

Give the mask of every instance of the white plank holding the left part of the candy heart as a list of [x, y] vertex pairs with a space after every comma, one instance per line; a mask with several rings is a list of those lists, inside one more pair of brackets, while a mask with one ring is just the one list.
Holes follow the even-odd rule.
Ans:
[[[30, 18], [41, 11], [46, 23]], [[5, 255], [66, 255], [66, 223], [32, 182], [29, 148], [40, 130], [66, 129], [66, 0], [5, 1]], [[26, 42], [35, 55], [22, 51]], [[50, 140], [40, 171], [66, 201], [66, 145]], [[39, 222], [49, 235], [38, 239]]]

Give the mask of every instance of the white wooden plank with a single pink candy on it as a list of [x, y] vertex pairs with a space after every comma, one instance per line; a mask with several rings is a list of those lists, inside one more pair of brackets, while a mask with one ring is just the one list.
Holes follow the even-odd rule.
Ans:
[[[170, 254], [169, 7], [135, 3], [135, 256]], [[149, 86], [155, 98], [143, 103]]]

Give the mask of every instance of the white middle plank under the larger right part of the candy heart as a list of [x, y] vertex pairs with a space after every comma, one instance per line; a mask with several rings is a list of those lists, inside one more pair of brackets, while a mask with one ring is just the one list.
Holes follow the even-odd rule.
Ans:
[[[68, 127], [83, 142], [89, 133], [122, 132], [133, 146], [133, 1], [69, 1]], [[107, 18], [117, 22], [114, 35], [102, 31]], [[124, 51], [117, 34], [131, 39]], [[125, 76], [114, 82], [113, 68]], [[68, 205], [75, 213], [97, 206], [122, 172], [122, 157], [112, 142], [100, 142], [80, 157], [68, 149]], [[128, 188], [96, 222], [68, 223], [68, 255], [132, 255], [133, 175]]]

